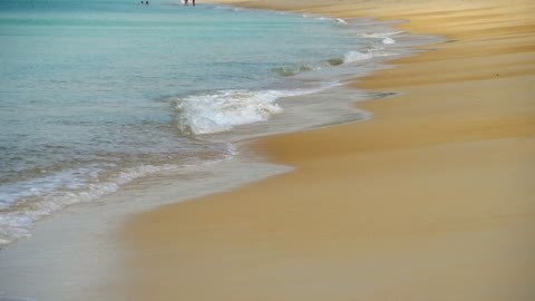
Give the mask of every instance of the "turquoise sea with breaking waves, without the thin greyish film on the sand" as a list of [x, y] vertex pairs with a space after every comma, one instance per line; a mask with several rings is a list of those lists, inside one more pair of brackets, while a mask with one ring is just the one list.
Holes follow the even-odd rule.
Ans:
[[0, 0], [0, 45], [1, 245], [133, 181], [233, 161], [243, 138], [369, 118], [349, 104], [380, 95], [321, 94], [414, 40], [203, 3]]

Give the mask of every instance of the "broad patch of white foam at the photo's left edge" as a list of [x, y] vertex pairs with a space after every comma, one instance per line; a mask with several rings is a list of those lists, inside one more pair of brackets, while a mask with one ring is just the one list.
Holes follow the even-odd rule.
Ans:
[[[176, 165], [143, 165], [120, 172], [108, 181], [98, 181], [98, 167], [69, 169], [46, 177], [0, 186], [2, 195], [12, 200], [0, 200], [0, 245], [30, 235], [33, 224], [45, 216], [71, 204], [91, 202], [119, 190], [120, 185], [157, 172], [176, 168]], [[18, 194], [10, 193], [18, 191]], [[17, 202], [17, 203], [16, 203]], [[9, 210], [14, 204], [16, 210]]]

